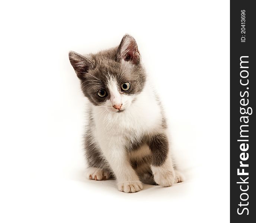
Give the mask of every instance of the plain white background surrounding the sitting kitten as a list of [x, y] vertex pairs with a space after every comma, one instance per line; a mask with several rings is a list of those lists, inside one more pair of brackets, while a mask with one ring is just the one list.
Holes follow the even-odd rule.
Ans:
[[[223, 0], [1, 3], [0, 222], [228, 222], [229, 17]], [[68, 60], [125, 33], [186, 176], [135, 194], [85, 179], [87, 100]]]

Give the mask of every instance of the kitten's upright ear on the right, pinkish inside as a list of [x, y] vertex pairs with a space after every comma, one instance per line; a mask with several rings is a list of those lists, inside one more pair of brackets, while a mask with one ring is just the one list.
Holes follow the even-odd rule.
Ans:
[[117, 61], [124, 59], [131, 61], [133, 64], [140, 62], [140, 52], [135, 39], [130, 35], [124, 35], [116, 53]]

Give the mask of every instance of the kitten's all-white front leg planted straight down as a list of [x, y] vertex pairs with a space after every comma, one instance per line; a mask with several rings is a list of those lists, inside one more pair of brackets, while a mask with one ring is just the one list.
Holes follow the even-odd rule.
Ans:
[[117, 180], [118, 190], [134, 193], [142, 189], [142, 184], [135, 170], [131, 167], [124, 146], [120, 139], [115, 138], [109, 146], [102, 147], [103, 154], [109, 162]]

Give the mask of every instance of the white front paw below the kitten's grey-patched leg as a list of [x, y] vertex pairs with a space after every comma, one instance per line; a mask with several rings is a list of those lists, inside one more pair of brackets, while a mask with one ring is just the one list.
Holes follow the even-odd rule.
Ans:
[[166, 170], [161, 167], [152, 167], [152, 172], [154, 175], [154, 181], [162, 187], [170, 187], [176, 183], [175, 171]]

